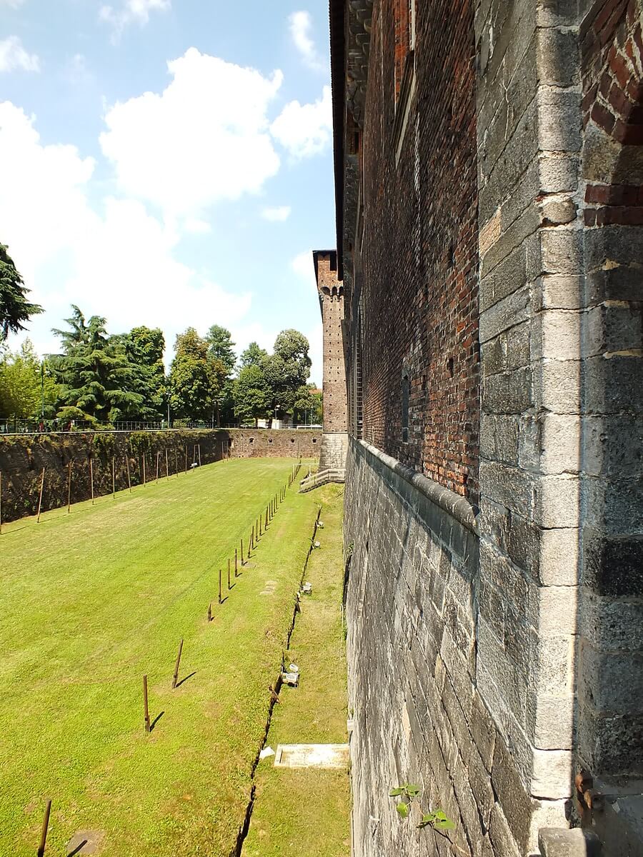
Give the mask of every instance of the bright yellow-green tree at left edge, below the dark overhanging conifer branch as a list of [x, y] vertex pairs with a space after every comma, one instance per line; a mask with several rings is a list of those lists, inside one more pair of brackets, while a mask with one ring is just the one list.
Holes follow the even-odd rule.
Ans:
[[34, 419], [45, 411], [53, 415], [57, 388], [29, 339], [15, 353], [0, 354], [0, 414], [16, 419]]

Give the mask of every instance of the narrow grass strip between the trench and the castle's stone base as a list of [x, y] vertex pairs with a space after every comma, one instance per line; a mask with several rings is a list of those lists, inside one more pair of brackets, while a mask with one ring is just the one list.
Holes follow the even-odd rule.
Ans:
[[[308, 473], [307, 468], [302, 468]], [[322, 504], [320, 550], [310, 554], [289, 657], [301, 669], [297, 688], [283, 687], [267, 746], [345, 744], [346, 648], [341, 625], [343, 488], [312, 492]], [[243, 857], [348, 857], [351, 853], [351, 789], [347, 770], [275, 768], [274, 757], [255, 773], [256, 796]]]

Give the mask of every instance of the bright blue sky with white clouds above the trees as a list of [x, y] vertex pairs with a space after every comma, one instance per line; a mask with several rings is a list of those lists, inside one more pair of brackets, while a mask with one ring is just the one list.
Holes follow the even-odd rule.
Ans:
[[[0, 0], [0, 243], [56, 352], [69, 306], [110, 333], [308, 336], [335, 245], [326, 0]], [[11, 337], [17, 348], [24, 337]]]

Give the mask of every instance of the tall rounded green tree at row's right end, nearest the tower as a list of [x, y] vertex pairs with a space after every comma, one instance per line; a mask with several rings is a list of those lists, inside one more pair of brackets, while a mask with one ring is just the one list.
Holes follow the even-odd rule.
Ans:
[[297, 330], [283, 330], [265, 364], [271, 390], [270, 409], [275, 416], [293, 414], [300, 388], [310, 375], [309, 341]]

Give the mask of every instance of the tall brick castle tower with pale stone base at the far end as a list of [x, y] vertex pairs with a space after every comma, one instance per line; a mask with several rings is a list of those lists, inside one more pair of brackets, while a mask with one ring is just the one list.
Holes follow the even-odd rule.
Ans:
[[[323, 436], [319, 470], [344, 470], [348, 445], [344, 285], [337, 279], [337, 251], [315, 250], [315, 279], [323, 323]], [[343, 473], [341, 474], [343, 477]]]

